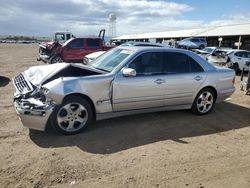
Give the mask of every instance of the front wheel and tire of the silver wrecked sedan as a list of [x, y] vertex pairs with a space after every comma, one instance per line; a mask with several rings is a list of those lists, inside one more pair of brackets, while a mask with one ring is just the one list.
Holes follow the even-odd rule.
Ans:
[[93, 120], [93, 111], [87, 100], [74, 95], [67, 97], [51, 116], [56, 132], [74, 135], [82, 132]]

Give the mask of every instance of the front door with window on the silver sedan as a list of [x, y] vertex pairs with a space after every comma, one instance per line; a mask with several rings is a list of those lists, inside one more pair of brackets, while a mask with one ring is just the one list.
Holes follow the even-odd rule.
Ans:
[[136, 70], [135, 77], [118, 73], [113, 81], [113, 110], [134, 110], [164, 106], [164, 75], [161, 74], [161, 54], [139, 55], [128, 67]]

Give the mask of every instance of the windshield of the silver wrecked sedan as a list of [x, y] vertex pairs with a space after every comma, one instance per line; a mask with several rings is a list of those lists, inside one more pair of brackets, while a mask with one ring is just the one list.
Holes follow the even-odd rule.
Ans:
[[130, 54], [132, 54], [133, 50], [130, 49], [119, 49], [114, 48], [94, 61], [91, 62], [90, 66], [103, 70], [106, 72], [113, 71], [124, 59], [126, 59]]

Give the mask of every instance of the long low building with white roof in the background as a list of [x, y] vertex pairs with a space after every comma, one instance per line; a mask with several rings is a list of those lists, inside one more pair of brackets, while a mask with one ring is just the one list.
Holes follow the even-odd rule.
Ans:
[[238, 48], [239, 45], [240, 49], [250, 50], [250, 23], [122, 35], [113, 38], [113, 41], [154, 41], [161, 43], [163, 40], [181, 40], [187, 37], [204, 37], [207, 39], [208, 46], [218, 46], [220, 38], [222, 40], [221, 46]]

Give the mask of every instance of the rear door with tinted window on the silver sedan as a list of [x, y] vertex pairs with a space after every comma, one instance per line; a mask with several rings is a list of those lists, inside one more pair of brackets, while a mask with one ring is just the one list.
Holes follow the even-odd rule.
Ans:
[[180, 52], [164, 53], [163, 72], [166, 106], [192, 104], [194, 94], [206, 79], [201, 65]]

